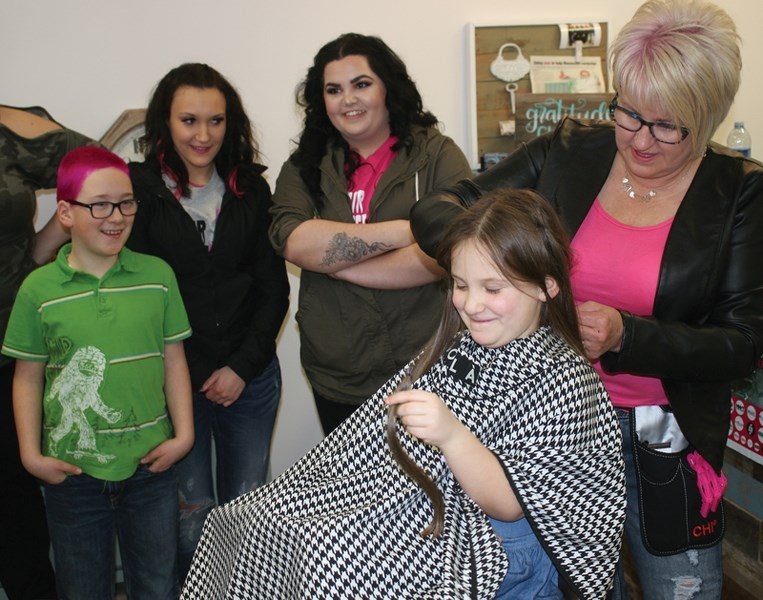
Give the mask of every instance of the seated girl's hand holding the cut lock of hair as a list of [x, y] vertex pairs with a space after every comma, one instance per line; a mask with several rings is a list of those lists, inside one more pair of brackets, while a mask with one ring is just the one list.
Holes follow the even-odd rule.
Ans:
[[385, 403], [398, 405], [397, 417], [408, 433], [440, 449], [466, 429], [432, 392], [405, 390], [392, 394]]

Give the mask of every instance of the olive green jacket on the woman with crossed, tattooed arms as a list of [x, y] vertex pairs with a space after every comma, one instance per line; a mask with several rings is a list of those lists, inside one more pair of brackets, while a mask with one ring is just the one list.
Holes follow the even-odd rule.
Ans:
[[[286, 240], [313, 218], [352, 223], [344, 151], [331, 148], [321, 163], [323, 201], [314, 202], [289, 160], [278, 176], [270, 238], [283, 254]], [[408, 219], [418, 197], [471, 176], [461, 150], [436, 129], [417, 129], [410, 151], [401, 149], [379, 180], [368, 222]], [[362, 225], [360, 225], [362, 227]], [[299, 325], [302, 366], [320, 395], [360, 404], [405, 365], [434, 332], [442, 307], [440, 283], [378, 290], [303, 270]]]

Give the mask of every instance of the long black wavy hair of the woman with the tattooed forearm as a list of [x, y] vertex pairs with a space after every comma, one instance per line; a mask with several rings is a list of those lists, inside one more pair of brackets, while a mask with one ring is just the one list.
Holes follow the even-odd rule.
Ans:
[[307, 76], [297, 87], [297, 104], [305, 111], [304, 127], [291, 161], [299, 168], [305, 185], [317, 200], [320, 192], [320, 162], [329, 144], [344, 148], [348, 175], [358, 166], [359, 156], [332, 125], [323, 100], [323, 73], [326, 65], [346, 56], [363, 56], [371, 70], [384, 82], [385, 104], [389, 112], [390, 132], [399, 141], [393, 150], [410, 149], [415, 125], [433, 127], [437, 117], [425, 111], [416, 84], [408, 75], [405, 63], [380, 38], [359, 33], [345, 33], [318, 51]]

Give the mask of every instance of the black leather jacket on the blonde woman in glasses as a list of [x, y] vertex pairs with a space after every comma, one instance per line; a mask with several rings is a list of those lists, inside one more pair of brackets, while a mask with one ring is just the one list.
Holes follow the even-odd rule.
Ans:
[[[611, 123], [566, 119], [474, 180], [423, 198], [411, 227], [434, 256], [448, 223], [484, 192], [539, 191], [572, 237], [616, 152]], [[456, 199], [458, 204], [454, 203]], [[676, 213], [660, 267], [654, 315], [623, 314], [620, 352], [602, 366], [662, 380], [689, 442], [719, 471], [732, 381], [763, 351], [763, 165], [710, 144]]]

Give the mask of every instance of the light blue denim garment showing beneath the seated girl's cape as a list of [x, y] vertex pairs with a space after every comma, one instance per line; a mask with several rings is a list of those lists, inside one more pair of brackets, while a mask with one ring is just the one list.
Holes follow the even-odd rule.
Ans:
[[509, 570], [496, 600], [534, 598], [562, 600], [559, 574], [527, 519], [497, 521], [488, 517], [509, 557]]

